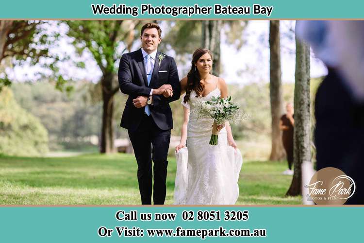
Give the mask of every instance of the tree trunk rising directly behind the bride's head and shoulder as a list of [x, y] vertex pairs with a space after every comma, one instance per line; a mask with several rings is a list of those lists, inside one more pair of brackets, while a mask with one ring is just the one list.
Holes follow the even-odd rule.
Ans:
[[213, 74], [220, 75], [220, 42], [222, 20], [202, 21], [202, 47], [209, 49], [214, 58]]

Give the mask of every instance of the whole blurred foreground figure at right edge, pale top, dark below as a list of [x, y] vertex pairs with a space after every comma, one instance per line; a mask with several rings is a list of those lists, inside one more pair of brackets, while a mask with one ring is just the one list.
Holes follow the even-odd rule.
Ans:
[[364, 21], [297, 21], [296, 34], [328, 67], [315, 98], [317, 170], [335, 167], [364, 204]]

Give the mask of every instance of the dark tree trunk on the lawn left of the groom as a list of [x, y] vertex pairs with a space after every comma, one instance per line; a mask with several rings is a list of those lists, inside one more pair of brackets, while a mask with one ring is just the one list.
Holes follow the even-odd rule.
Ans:
[[112, 73], [102, 77], [102, 124], [101, 124], [101, 141], [100, 153], [114, 153], [114, 94], [112, 92]]

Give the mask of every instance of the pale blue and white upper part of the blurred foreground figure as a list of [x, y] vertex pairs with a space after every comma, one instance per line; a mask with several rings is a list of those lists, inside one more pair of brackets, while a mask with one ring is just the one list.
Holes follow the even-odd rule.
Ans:
[[364, 21], [297, 21], [296, 35], [340, 75], [350, 97], [364, 103]]

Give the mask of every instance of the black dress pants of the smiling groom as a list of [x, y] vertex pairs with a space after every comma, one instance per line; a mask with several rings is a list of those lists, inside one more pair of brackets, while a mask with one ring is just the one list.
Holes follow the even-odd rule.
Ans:
[[[153, 202], [165, 203], [167, 177], [167, 155], [170, 130], [161, 130], [153, 118], [144, 114], [136, 131], [128, 131], [138, 164], [138, 183], [142, 204], [151, 204], [152, 179], [154, 174]], [[154, 162], [152, 173], [152, 160]]]

